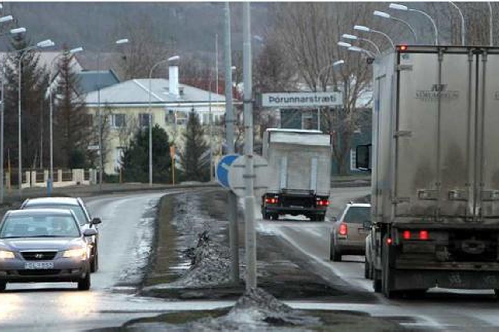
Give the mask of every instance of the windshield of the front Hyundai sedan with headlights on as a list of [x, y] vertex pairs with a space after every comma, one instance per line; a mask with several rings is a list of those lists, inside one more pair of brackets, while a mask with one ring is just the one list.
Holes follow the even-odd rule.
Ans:
[[0, 228], [0, 238], [78, 236], [75, 220], [65, 215], [7, 216]]

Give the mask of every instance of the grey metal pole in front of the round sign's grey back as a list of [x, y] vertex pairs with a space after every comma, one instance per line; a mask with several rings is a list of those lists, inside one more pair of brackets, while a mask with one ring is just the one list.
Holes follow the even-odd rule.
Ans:
[[245, 226], [246, 226], [246, 289], [256, 288], [256, 235], [254, 231], [254, 171], [253, 171], [253, 114], [251, 91], [251, 27], [250, 2], [243, 11], [243, 70], [245, 115]]

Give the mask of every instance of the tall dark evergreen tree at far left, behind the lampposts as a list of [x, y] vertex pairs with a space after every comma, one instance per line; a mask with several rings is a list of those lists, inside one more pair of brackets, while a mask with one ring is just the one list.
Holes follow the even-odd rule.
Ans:
[[[13, 39], [12, 47], [20, 50], [30, 45], [24, 36]], [[45, 92], [48, 74], [45, 67], [39, 65], [39, 55], [35, 50], [11, 52], [5, 66], [5, 153], [10, 155], [12, 167], [18, 165], [18, 82], [19, 60], [21, 66], [21, 152], [23, 169], [39, 164], [40, 149], [48, 151], [48, 102]], [[43, 133], [43, 141], [41, 134]], [[40, 146], [43, 143], [43, 147]], [[44, 154], [44, 165], [48, 165], [49, 156]]]

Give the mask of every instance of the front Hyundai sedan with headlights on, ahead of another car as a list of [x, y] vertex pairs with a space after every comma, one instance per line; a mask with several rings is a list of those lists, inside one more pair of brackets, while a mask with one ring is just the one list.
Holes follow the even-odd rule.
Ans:
[[7, 283], [75, 282], [90, 289], [90, 248], [75, 214], [62, 209], [7, 211], [0, 223], [0, 290]]

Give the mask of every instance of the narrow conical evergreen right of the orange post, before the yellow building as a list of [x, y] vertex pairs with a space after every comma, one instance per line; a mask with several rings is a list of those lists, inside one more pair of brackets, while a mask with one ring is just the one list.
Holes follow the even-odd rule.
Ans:
[[199, 116], [194, 109], [189, 113], [184, 151], [180, 156], [180, 163], [184, 168], [183, 178], [191, 181], [208, 181], [210, 179], [210, 163], [206, 157], [208, 145], [203, 138], [204, 131]]

